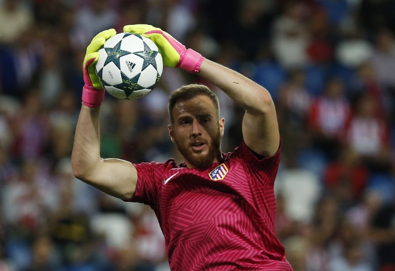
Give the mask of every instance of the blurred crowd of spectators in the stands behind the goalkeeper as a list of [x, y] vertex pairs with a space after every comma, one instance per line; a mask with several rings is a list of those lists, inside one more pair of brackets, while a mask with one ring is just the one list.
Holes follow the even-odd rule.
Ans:
[[[0, 0], [0, 270], [165, 271], [153, 211], [75, 179], [82, 59], [98, 32], [148, 23], [266, 87], [282, 138], [276, 234], [295, 271], [395, 270], [395, 0]], [[106, 94], [104, 158], [181, 163], [165, 68], [137, 101]]]

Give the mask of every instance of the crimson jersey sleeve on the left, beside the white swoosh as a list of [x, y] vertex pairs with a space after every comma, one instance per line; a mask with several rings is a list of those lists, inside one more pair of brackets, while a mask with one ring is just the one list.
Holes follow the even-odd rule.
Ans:
[[137, 170], [137, 185], [133, 197], [127, 201], [144, 203], [155, 209], [166, 164], [151, 162], [133, 165]]

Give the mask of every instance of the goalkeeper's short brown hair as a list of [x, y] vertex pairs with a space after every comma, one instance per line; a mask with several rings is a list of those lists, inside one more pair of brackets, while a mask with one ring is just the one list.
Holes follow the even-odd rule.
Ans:
[[199, 95], [204, 95], [210, 98], [210, 100], [214, 103], [216, 109], [217, 109], [217, 117], [219, 118], [219, 101], [217, 95], [215, 95], [214, 92], [212, 92], [207, 86], [202, 85], [202, 84], [189, 84], [182, 86], [179, 89], [176, 89], [169, 98], [169, 103], [167, 106], [167, 111], [169, 113], [170, 121], [171, 124], [174, 123], [174, 118], [173, 118], [173, 109], [174, 105], [178, 101], [185, 101], [185, 100], [190, 100], [192, 98], [195, 98]]

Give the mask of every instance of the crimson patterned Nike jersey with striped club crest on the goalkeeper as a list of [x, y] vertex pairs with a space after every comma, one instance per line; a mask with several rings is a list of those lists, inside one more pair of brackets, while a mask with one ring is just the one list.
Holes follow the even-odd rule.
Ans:
[[223, 155], [209, 169], [172, 159], [134, 165], [130, 201], [154, 209], [171, 270], [292, 270], [275, 235], [280, 151], [258, 160], [242, 143]]

